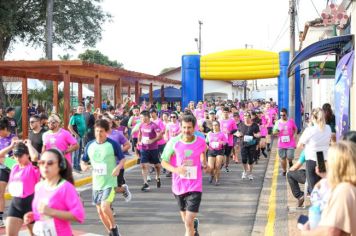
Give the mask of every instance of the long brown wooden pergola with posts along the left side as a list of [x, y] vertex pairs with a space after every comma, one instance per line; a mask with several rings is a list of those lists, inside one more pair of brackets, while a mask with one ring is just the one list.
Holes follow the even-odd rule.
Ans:
[[[28, 93], [27, 79], [53, 81], [53, 106], [58, 112], [58, 83], [64, 82], [64, 128], [68, 127], [70, 113], [70, 83], [78, 83], [78, 100], [82, 101], [82, 85], [94, 84], [94, 106], [101, 107], [101, 86], [113, 85], [115, 89], [114, 103], [122, 100], [122, 88], [127, 87], [131, 96], [131, 87], [135, 88], [135, 102], [139, 103], [142, 85], [149, 86], [149, 101], [153, 101], [153, 85], [181, 84], [180, 81], [167, 79], [125, 69], [93, 64], [85, 61], [0, 61], [0, 76], [22, 78], [22, 130], [23, 137], [28, 136]], [[164, 96], [164, 94], [162, 94]], [[164, 100], [164, 98], [162, 98]]]

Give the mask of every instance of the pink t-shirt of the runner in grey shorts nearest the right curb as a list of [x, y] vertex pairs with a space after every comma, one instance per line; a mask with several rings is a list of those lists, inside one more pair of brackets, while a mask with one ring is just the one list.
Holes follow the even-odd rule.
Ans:
[[295, 148], [294, 133], [297, 131], [297, 126], [294, 120], [289, 119], [287, 122], [278, 120], [275, 124], [276, 128], [279, 130], [278, 148]]

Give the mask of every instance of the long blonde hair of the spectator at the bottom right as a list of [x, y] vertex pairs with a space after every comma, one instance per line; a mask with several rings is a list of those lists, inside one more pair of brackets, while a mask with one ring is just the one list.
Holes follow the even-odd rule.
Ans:
[[328, 180], [332, 188], [341, 182], [356, 186], [356, 144], [340, 141], [328, 151]]

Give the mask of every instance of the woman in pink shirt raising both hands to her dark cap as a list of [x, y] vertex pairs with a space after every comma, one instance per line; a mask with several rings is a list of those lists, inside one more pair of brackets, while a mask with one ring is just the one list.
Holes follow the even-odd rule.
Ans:
[[[6, 218], [6, 235], [18, 235], [22, 225], [23, 217], [32, 211], [32, 200], [35, 192], [35, 185], [40, 180], [39, 170], [32, 165], [37, 162], [38, 153], [31, 145], [30, 140], [12, 140], [10, 146], [1, 150], [9, 152], [13, 149], [13, 154], [17, 164], [11, 170], [8, 191], [13, 197], [8, 209]], [[2, 154], [0, 154], [2, 155]], [[27, 225], [32, 234], [33, 224]]]

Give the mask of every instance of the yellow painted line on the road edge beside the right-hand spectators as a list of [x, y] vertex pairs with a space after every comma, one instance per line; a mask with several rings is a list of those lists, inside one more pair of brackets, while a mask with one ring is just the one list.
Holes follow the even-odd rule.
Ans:
[[268, 200], [268, 213], [267, 213], [268, 221], [265, 228], [266, 236], [274, 235], [274, 223], [276, 220], [276, 192], [277, 192], [278, 170], [279, 170], [279, 157], [278, 155], [276, 155], [276, 160], [274, 161], [271, 194], [269, 195], [269, 200]]

